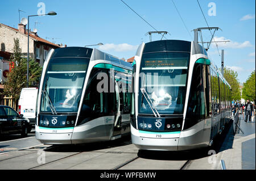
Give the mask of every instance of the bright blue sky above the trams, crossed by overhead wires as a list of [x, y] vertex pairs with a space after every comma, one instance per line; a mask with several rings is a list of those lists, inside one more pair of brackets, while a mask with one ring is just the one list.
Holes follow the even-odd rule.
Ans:
[[[207, 27], [200, 7], [196, 0], [173, 0], [183, 18], [177, 13], [172, 0], [123, 0], [141, 15], [158, 31], [168, 31], [167, 39], [191, 41], [193, 29]], [[20, 18], [36, 15], [45, 5], [46, 13], [56, 11], [56, 16], [36, 16], [30, 18], [30, 28], [38, 29], [38, 35], [46, 37], [55, 43], [71, 46], [92, 45], [104, 43], [96, 48], [113, 54], [119, 58], [133, 57], [136, 48], [143, 42], [147, 43], [148, 31], [155, 31], [138, 15], [131, 11], [120, 0], [84, 0], [84, 1], [2, 1], [0, 6], [0, 23], [18, 27]], [[230, 40], [230, 43], [218, 43], [218, 49], [225, 50], [225, 66], [238, 73], [240, 82], [245, 82], [255, 70], [255, 1], [254, 0], [199, 0], [205, 18], [210, 27], [220, 27], [216, 31], [215, 41]], [[208, 11], [216, 5], [216, 14], [210, 16]], [[213, 11], [211, 11], [213, 12]], [[1, 36], [1, 35], [0, 35]], [[159, 35], [153, 35], [152, 40], [160, 40]], [[203, 31], [204, 41], [210, 40], [210, 33]], [[212, 44], [208, 54], [220, 67], [221, 57], [215, 44]]]

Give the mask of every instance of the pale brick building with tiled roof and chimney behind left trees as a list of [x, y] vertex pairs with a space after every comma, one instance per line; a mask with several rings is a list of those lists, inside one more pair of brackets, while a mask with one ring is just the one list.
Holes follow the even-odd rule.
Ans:
[[[3, 91], [4, 85], [2, 84], [5, 82], [6, 72], [8, 72], [10, 68], [9, 60], [11, 53], [13, 53], [14, 38], [19, 39], [19, 47], [22, 50], [22, 56], [25, 58], [27, 57], [27, 32], [26, 26], [23, 24], [18, 24], [18, 29], [16, 29], [0, 23], [0, 92]], [[61, 47], [60, 45], [42, 39], [34, 32], [30, 32], [29, 41], [30, 58], [37, 61], [40, 66], [43, 66], [49, 50]], [[0, 98], [0, 104], [3, 104], [2, 96]]]

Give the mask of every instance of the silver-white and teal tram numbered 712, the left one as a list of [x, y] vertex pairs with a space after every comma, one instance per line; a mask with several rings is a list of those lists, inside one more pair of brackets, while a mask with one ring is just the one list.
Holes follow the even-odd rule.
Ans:
[[44, 144], [108, 141], [130, 134], [131, 64], [98, 49], [51, 50], [36, 107]]

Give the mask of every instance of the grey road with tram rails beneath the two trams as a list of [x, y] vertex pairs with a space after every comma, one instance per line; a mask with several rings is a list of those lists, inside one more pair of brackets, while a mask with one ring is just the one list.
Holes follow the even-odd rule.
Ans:
[[233, 129], [229, 128], [217, 138], [218, 144], [210, 148], [216, 151], [215, 155], [209, 154], [208, 149], [141, 151], [131, 144], [129, 136], [84, 145], [43, 145], [32, 131], [26, 138], [20, 135], [2, 138], [0, 170], [218, 170], [220, 159], [224, 159], [221, 146]]

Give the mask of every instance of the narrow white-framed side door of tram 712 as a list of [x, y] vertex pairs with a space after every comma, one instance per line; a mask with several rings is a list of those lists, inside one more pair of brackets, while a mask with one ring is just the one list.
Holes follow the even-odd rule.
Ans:
[[119, 87], [117, 81], [115, 81], [115, 118], [114, 118], [114, 132], [113, 136], [121, 135], [121, 122], [122, 122], [122, 100], [123, 95], [122, 92], [119, 92]]

